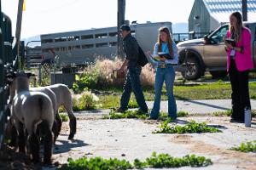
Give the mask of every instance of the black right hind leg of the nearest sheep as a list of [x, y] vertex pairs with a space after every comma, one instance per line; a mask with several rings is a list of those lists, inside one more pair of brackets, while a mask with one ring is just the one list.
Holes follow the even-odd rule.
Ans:
[[53, 134], [50, 130], [46, 133], [44, 137], [44, 164], [51, 164], [51, 155], [52, 155], [52, 143], [53, 143]]

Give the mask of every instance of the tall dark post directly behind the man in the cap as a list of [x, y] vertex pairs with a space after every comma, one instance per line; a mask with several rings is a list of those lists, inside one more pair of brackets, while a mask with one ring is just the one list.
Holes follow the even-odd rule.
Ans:
[[[125, 0], [118, 0], [118, 23], [117, 23], [117, 31], [119, 31], [119, 27], [125, 24]], [[123, 49], [123, 40], [122, 37], [118, 34], [118, 57], [124, 57], [124, 49]]]

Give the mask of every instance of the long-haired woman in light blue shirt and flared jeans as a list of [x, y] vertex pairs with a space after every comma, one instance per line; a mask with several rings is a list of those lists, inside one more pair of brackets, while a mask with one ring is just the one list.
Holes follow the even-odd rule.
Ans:
[[172, 120], [177, 118], [177, 105], [173, 95], [173, 83], [175, 71], [173, 65], [177, 64], [177, 46], [172, 39], [172, 35], [167, 27], [159, 29], [158, 42], [154, 45], [154, 55], [165, 53], [172, 56], [173, 59], [160, 58], [159, 61], [153, 61], [156, 67], [154, 82], [154, 106], [149, 119], [157, 119], [160, 111], [160, 97], [163, 83], [166, 82], [166, 92], [168, 96], [168, 116]]

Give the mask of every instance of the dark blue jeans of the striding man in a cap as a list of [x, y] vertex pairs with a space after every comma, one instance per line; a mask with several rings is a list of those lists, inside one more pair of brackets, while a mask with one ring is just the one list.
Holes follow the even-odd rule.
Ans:
[[137, 100], [137, 104], [139, 105], [139, 109], [148, 112], [148, 106], [146, 105], [140, 82], [141, 71], [141, 67], [128, 68], [125, 79], [124, 92], [122, 94], [120, 103], [120, 109], [124, 111], [128, 109], [128, 103], [131, 98], [131, 91], [133, 91]]

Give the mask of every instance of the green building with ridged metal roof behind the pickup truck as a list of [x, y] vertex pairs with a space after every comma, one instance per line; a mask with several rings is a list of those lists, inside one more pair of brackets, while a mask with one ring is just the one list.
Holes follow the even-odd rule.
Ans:
[[[241, 0], [195, 0], [189, 15], [189, 32], [206, 34], [229, 22], [230, 14], [241, 12]], [[256, 21], [256, 0], [247, 0], [247, 20]]]

